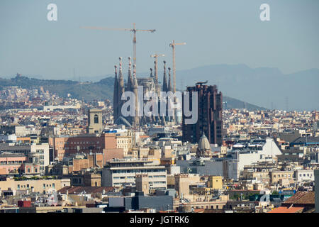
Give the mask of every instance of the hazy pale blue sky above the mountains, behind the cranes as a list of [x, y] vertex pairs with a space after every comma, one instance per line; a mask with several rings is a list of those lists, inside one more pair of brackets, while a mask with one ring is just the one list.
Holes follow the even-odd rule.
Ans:
[[[57, 4], [57, 21], [47, 5]], [[270, 6], [271, 21], [259, 19]], [[127, 31], [93, 31], [80, 26], [156, 29], [138, 33], [138, 72], [153, 67], [152, 53], [177, 46], [177, 70], [202, 65], [278, 67], [284, 73], [319, 68], [318, 0], [1, 0], [0, 77], [40, 74], [44, 78], [100, 76], [113, 72], [118, 57], [133, 56]], [[160, 65], [162, 67], [162, 64]]]

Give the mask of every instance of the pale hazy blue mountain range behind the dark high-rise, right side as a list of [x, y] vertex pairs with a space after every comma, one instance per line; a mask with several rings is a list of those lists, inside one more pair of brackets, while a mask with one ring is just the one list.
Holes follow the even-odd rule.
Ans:
[[267, 109], [312, 111], [319, 109], [319, 70], [283, 74], [276, 68], [247, 65], [209, 65], [177, 71], [177, 87], [198, 80], [217, 84], [223, 94]]

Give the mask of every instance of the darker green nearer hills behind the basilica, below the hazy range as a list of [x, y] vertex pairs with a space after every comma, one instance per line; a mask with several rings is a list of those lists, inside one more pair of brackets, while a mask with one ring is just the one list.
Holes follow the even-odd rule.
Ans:
[[[45, 90], [49, 90], [53, 94], [57, 94], [62, 97], [67, 97], [67, 94], [71, 94], [72, 97], [77, 99], [84, 99], [85, 101], [91, 101], [94, 99], [110, 99], [113, 100], [113, 84], [114, 77], [106, 77], [99, 82], [74, 82], [72, 80], [54, 80], [54, 79], [35, 79], [29, 77], [13, 77], [11, 79], [0, 78], [0, 89], [4, 89], [9, 86], [18, 86], [26, 89], [38, 89], [43, 87]], [[223, 101], [226, 109], [241, 109], [246, 108], [248, 110], [262, 110], [264, 108], [240, 101], [237, 99], [223, 96]]]

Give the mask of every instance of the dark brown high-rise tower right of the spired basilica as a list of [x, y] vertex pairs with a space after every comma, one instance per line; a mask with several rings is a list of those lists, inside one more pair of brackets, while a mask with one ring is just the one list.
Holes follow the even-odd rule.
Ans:
[[198, 119], [194, 124], [185, 124], [184, 96], [183, 96], [183, 141], [198, 143], [205, 133], [209, 143], [223, 144], [223, 94], [218, 93], [217, 86], [203, 85], [198, 82], [195, 87], [187, 87], [189, 104], [192, 104], [192, 92], [198, 92]]

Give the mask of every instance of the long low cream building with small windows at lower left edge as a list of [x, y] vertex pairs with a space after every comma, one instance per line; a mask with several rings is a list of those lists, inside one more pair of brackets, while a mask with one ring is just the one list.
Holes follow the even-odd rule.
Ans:
[[40, 192], [43, 194], [56, 192], [62, 187], [70, 186], [70, 179], [26, 179], [15, 180], [6, 178], [5, 181], [0, 181], [0, 191], [12, 190], [16, 194], [17, 190], [29, 190], [29, 192]]

